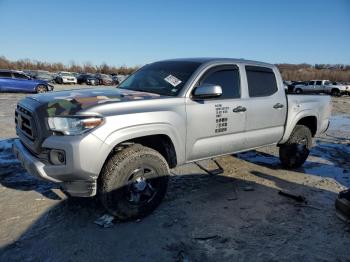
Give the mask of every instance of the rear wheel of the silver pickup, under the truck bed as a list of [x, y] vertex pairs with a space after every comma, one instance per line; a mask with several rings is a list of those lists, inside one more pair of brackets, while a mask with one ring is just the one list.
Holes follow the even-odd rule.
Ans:
[[[303, 142], [301, 143], [301, 141]], [[304, 125], [296, 125], [288, 141], [280, 145], [279, 157], [282, 165], [286, 168], [302, 166], [309, 156], [311, 147], [312, 134], [310, 129]]]

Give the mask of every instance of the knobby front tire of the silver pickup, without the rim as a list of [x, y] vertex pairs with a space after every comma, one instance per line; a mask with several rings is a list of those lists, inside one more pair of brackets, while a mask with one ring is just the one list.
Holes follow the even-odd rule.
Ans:
[[[156, 175], [151, 179], [155, 190], [146, 203], [130, 203], [126, 195], [130, 174], [139, 166], [151, 167]], [[141, 218], [150, 214], [163, 200], [169, 179], [169, 167], [157, 151], [139, 144], [131, 145], [112, 154], [102, 168], [99, 177], [99, 198], [106, 210], [122, 221]]]

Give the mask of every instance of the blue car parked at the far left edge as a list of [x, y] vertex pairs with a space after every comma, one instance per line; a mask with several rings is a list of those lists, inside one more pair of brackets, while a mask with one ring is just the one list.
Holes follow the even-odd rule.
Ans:
[[1, 92], [44, 93], [53, 88], [47, 81], [33, 79], [21, 71], [0, 70]]

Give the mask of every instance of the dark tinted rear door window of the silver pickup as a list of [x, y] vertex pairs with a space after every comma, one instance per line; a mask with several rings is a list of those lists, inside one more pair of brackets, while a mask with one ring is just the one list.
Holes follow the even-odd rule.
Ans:
[[272, 69], [246, 66], [250, 97], [270, 96], [277, 92], [276, 77]]

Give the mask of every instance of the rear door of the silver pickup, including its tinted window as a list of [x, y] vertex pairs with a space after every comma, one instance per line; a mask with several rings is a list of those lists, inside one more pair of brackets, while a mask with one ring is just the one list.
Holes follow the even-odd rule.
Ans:
[[247, 148], [277, 143], [283, 136], [287, 99], [274, 71], [260, 66], [245, 66], [249, 99], [247, 104]]

